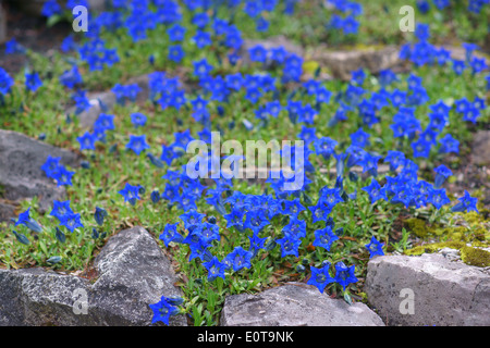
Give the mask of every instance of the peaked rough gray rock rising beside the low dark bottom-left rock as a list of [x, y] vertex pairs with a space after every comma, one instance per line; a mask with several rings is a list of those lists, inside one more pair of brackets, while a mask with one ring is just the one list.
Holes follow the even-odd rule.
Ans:
[[[162, 296], [182, 296], [170, 261], [142, 227], [133, 227], [112, 237], [95, 260], [99, 277], [91, 290], [99, 310], [120, 320], [111, 325], [148, 325], [148, 307]], [[185, 318], [173, 318], [172, 325], [185, 325]]]

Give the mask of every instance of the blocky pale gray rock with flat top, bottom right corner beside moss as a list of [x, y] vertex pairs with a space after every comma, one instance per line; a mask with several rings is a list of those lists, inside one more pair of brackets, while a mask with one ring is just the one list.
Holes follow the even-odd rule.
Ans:
[[371, 259], [364, 287], [369, 303], [387, 325], [490, 325], [490, 272], [453, 257], [445, 252]]

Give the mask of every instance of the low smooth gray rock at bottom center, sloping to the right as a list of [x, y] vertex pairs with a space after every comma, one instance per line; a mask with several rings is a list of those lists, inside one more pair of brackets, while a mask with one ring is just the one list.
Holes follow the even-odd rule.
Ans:
[[222, 326], [383, 326], [366, 304], [332, 299], [302, 283], [226, 297]]

